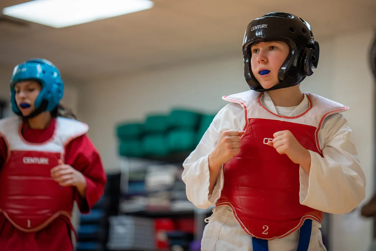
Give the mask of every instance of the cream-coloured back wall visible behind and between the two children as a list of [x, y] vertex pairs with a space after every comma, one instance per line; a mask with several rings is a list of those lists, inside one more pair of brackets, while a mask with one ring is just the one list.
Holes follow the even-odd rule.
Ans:
[[[367, 58], [373, 35], [373, 30], [364, 30], [320, 40], [319, 67], [302, 83], [303, 91], [350, 107], [344, 116], [353, 129], [359, 159], [368, 179], [367, 198], [374, 190], [375, 81]], [[216, 112], [226, 104], [221, 96], [244, 90], [248, 87], [243, 77], [243, 58], [238, 54], [82, 85], [79, 113], [90, 126], [90, 137], [102, 155], [106, 170], [115, 172], [119, 167], [116, 123], [142, 120], [148, 113], [167, 112], [173, 106]], [[359, 209], [335, 216], [330, 250], [367, 250], [371, 233], [371, 222], [360, 219]]]

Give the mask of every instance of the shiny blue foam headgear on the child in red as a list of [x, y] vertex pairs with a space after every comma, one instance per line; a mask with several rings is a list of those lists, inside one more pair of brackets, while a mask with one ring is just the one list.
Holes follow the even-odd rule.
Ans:
[[35, 110], [38, 113], [53, 111], [59, 105], [59, 101], [64, 94], [64, 83], [58, 68], [48, 60], [33, 58], [17, 65], [13, 70], [11, 79], [11, 106], [15, 114], [22, 116], [16, 103], [14, 85], [27, 80], [33, 80], [42, 85], [42, 90], [34, 103]]

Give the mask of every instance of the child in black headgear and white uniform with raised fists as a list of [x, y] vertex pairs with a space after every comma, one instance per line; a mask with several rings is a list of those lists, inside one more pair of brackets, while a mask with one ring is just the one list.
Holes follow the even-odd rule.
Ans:
[[274, 12], [249, 23], [244, 77], [252, 90], [223, 97], [183, 163], [188, 199], [216, 205], [203, 251], [324, 251], [323, 213], [348, 213], [365, 197], [347, 106], [302, 93], [317, 67], [309, 24]]

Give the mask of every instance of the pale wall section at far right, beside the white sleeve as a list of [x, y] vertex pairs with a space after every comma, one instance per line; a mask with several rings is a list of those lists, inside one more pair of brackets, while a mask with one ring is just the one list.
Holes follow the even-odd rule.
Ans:
[[[337, 37], [333, 41], [333, 96], [350, 107], [344, 113], [353, 130], [359, 160], [367, 178], [366, 203], [374, 193], [374, 97], [376, 80], [371, 75], [369, 52], [374, 31]], [[355, 49], [355, 51], [353, 50]], [[368, 250], [373, 239], [372, 222], [359, 217], [361, 206], [332, 218], [335, 251]]]

